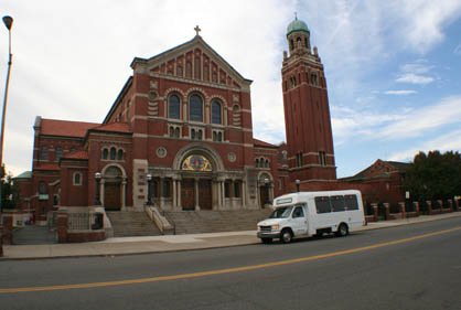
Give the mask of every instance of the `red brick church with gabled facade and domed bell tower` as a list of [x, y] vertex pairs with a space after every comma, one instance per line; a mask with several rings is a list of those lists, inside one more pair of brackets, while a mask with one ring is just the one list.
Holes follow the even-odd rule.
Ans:
[[35, 223], [58, 206], [95, 205], [97, 193], [108, 211], [142, 210], [148, 194], [164, 211], [256, 210], [296, 180], [303, 189], [336, 182], [326, 81], [307, 24], [287, 29], [280, 146], [254, 138], [251, 81], [195, 30], [135, 57], [101, 124], [36, 117], [32, 171], [15, 178]]

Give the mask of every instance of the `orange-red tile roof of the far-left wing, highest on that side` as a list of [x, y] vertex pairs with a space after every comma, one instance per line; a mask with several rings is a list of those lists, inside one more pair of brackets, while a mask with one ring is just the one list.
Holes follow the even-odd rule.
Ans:
[[88, 129], [99, 125], [96, 122], [43, 118], [41, 122], [41, 135], [83, 138]]

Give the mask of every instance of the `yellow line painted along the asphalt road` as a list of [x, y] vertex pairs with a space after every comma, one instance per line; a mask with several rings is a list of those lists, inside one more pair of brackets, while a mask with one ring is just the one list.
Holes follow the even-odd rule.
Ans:
[[133, 285], [133, 284], [147, 284], [147, 282], [158, 282], [158, 281], [168, 281], [168, 280], [178, 280], [178, 279], [199, 278], [199, 277], [223, 275], [223, 274], [230, 274], [230, 272], [242, 272], [242, 271], [248, 271], [248, 270], [255, 270], [255, 269], [261, 269], [261, 268], [268, 268], [268, 267], [275, 267], [275, 266], [283, 266], [283, 265], [290, 265], [290, 264], [296, 264], [296, 263], [318, 260], [322, 258], [335, 257], [335, 256], [353, 254], [353, 253], [358, 253], [358, 252], [372, 250], [372, 249], [376, 249], [376, 248], [380, 248], [385, 246], [398, 245], [398, 244], [414, 242], [417, 239], [443, 235], [443, 234], [452, 233], [452, 232], [460, 231], [460, 229], [461, 227], [454, 227], [451, 229], [439, 231], [439, 232], [419, 235], [415, 237], [409, 237], [409, 238], [404, 238], [404, 239], [398, 239], [398, 240], [393, 240], [393, 242], [385, 242], [385, 243], [379, 243], [379, 244], [364, 246], [364, 247], [357, 247], [357, 248], [339, 250], [339, 252], [333, 252], [333, 253], [328, 253], [328, 254], [307, 256], [307, 257], [301, 257], [301, 258], [293, 258], [293, 259], [287, 259], [287, 260], [280, 260], [280, 261], [259, 264], [259, 265], [244, 266], [244, 267], [235, 267], [235, 268], [202, 271], [202, 272], [194, 272], [194, 274], [183, 274], [183, 275], [175, 275], [175, 276], [162, 276], [162, 277], [153, 277], [153, 278], [132, 279], [132, 280], [108, 281], [108, 282], [61, 285], [61, 286], [46, 286], [46, 287], [6, 288], [6, 289], [0, 289], [0, 293], [111, 287], [111, 286], [124, 286], [124, 285]]

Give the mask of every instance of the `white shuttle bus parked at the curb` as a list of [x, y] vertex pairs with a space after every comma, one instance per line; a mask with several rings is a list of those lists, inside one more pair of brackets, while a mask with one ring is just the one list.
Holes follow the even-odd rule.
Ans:
[[298, 192], [274, 200], [275, 211], [258, 223], [257, 236], [264, 243], [335, 233], [346, 236], [353, 227], [364, 226], [360, 191]]

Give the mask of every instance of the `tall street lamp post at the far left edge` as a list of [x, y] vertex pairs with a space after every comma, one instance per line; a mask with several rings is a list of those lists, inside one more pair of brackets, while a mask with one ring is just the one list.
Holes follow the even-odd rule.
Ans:
[[[1, 116], [1, 138], [0, 138], [0, 215], [2, 212], [2, 195], [1, 188], [3, 185], [3, 138], [4, 138], [4, 117], [7, 115], [7, 101], [8, 101], [8, 87], [10, 86], [10, 72], [11, 64], [13, 61], [13, 54], [11, 54], [11, 26], [13, 25], [13, 19], [11, 17], [3, 17], [3, 23], [8, 29], [8, 72], [7, 72], [7, 82], [4, 86], [4, 96], [3, 96], [3, 111]], [[3, 255], [3, 237], [0, 237], [0, 256]]]

